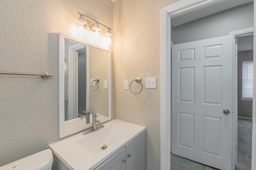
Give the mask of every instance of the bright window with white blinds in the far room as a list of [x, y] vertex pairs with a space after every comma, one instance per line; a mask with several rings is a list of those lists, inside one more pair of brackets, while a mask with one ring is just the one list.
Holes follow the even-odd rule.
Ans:
[[242, 98], [252, 99], [253, 88], [253, 61], [243, 61], [242, 64]]

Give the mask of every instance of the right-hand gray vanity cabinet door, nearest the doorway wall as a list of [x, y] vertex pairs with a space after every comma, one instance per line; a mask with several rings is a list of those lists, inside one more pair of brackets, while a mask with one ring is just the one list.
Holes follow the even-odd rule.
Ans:
[[146, 131], [125, 146], [126, 170], [146, 170]]

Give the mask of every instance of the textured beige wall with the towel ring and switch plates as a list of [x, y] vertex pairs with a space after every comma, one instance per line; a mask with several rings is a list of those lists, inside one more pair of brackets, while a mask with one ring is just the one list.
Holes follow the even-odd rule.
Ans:
[[[116, 0], [114, 2], [114, 72], [116, 119], [147, 129], [147, 170], [160, 169], [160, 9], [177, 0]], [[124, 90], [141, 77], [140, 94]], [[146, 77], [157, 88], [146, 89]]]

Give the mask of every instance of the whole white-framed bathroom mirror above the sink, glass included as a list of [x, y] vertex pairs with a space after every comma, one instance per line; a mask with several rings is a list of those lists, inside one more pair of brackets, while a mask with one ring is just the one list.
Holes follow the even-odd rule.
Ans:
[[111, 119], [111, 50], [59, 33], [59, 137]]

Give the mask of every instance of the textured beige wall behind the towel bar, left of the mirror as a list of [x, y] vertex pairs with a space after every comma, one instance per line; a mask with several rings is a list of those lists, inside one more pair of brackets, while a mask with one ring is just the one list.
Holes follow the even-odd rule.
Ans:
[[53, 74], [0, 75], [0, 166], [58, 140], [58, 33], [71, 34], [77, 12], [113, 25], [110, 0], [0, 1], [0, 71]]

